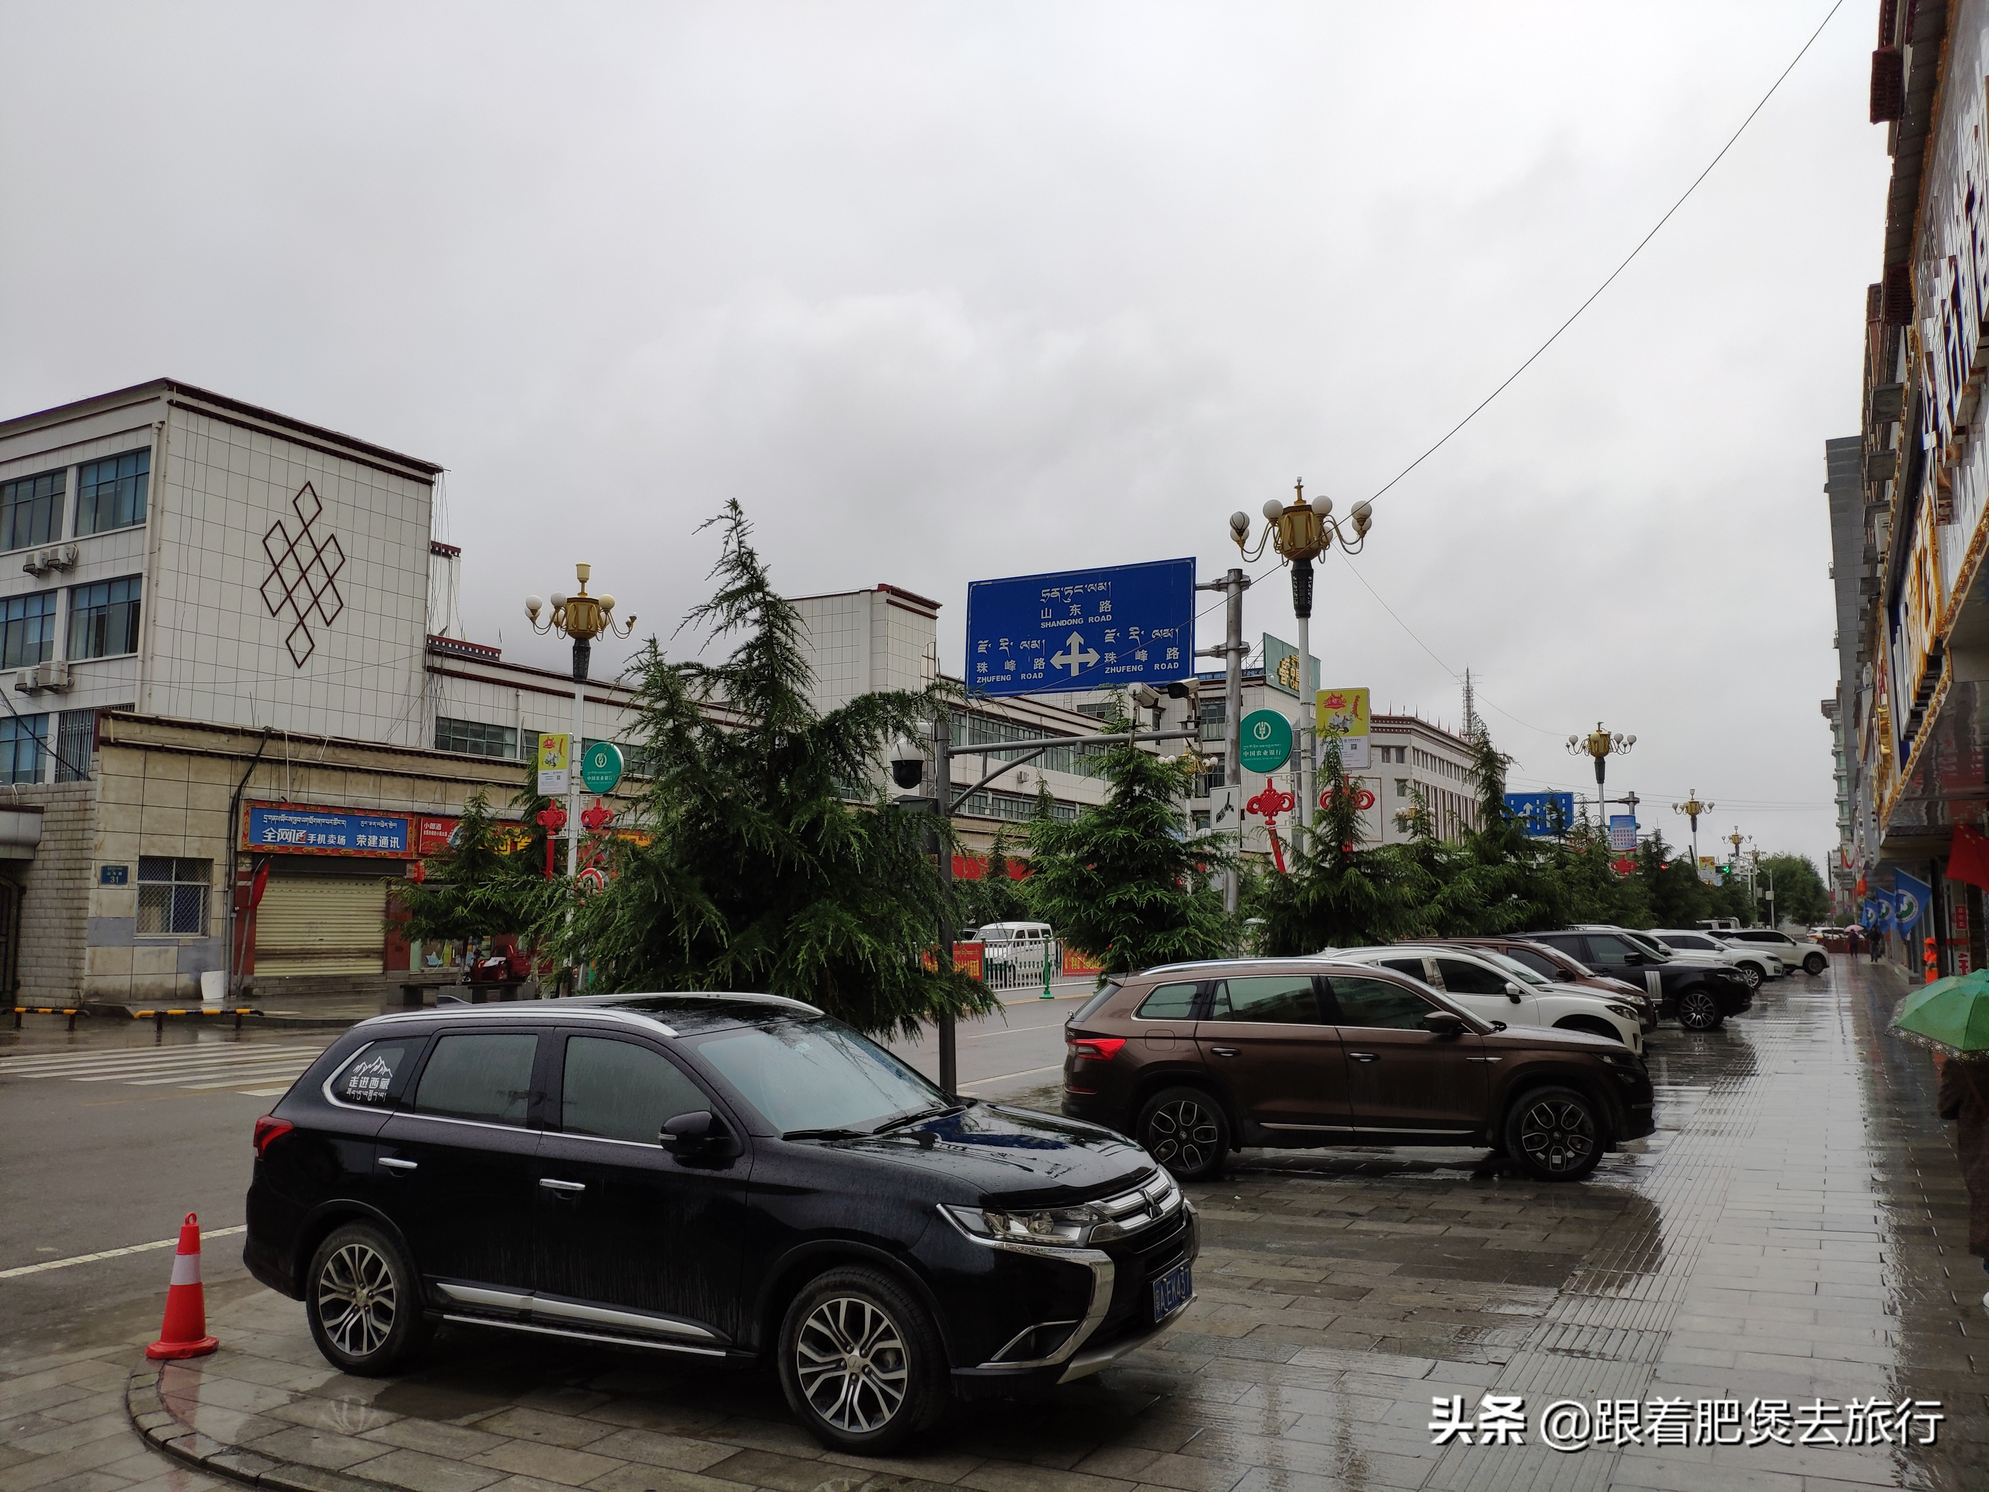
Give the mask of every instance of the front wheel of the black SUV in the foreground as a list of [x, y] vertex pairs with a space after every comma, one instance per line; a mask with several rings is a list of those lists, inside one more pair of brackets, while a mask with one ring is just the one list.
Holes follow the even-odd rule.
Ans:
[[949, 1383], [931, 1313], [877, 1269], [815, 1275], [780, 1323], [788, 1408], [831, 1450], [893, 1450], [939, 1418]]

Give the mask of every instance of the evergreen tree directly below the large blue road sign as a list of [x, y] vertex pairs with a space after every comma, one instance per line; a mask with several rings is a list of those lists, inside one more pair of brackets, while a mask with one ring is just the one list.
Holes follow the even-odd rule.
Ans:
[[[1100, 728], [1128, 730], [1124, 706]], [[1022, 883], [1036, 917], [1106, 975], [1229, 953], [1235, 925], [1213, 873], [1231, 855], [1217, 836], [1183, 830], [1191, 778], [1179, 758], [1116, 744], [1082, 766], [1112, 792], [1068, 822], [1036, 800]]]

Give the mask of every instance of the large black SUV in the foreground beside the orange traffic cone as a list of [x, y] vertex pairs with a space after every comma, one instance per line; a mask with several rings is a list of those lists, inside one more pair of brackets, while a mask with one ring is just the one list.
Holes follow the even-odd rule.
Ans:
[[243, 1261], [340, 1371], [392, 1373], [442, 1321], [774, 1357], [843, 1450], [949, 1389], [1096, 1373], [1193, 1293], [1193, 1208], [1144, 1150], [953, 1098], [776, 997], [378, 1017], [255, 1148]]

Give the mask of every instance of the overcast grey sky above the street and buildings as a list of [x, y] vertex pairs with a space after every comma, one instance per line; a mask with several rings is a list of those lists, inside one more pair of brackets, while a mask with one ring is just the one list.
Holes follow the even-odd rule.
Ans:
[[[674, 625], [738, 497], [959, 670], [973, 579], [1209, 575], [1233, 509], [1394, 477], [1828, 8], [4, 0], [0, 414], [167, 374], [440, 462], [469, 635], [551, 666], [519, 597], [591, 559]], [[1514, 786], [1605, 720], [1647, 828], [1826, 849], [1874, 16], [1325, 561], [1329, 682], [1456, 722], [1470, 666]]]

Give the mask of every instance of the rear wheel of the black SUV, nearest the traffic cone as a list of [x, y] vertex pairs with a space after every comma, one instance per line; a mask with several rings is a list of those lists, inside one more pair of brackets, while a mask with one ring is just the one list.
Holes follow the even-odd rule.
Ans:
[[304, 1317], [324, 1361], [360, 1379], [394, 1373], [434, 1335], [414, 1261], [372, 1223], [334, 1227], [318, 1243], [304, 1275]]

